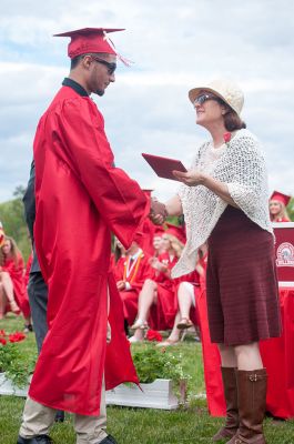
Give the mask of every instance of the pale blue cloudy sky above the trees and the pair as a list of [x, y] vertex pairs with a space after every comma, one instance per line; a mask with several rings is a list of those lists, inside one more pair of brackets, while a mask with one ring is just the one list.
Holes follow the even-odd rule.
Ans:
[[135, 63], [95, 102], [116, 165], [166, 199], [142, 152], [189, 165], [207, 133], [194, 123], [189, 89], [220, 77], [245, 92], [243, 118], [262, 141], [270, 189], [294, 194], [294, 2], [292, 0], [1, 0], [0, 202], [26, 185], [38, 120], [69, 72], [69, 39], [85, 27], [113, 34]]

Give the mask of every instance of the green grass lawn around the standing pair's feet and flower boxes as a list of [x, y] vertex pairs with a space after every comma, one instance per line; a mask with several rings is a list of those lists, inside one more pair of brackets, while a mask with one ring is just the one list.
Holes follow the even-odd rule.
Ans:
[[[0, 330], [8, 332], [22, 329], [22, 321], [12, 315], [0, 321]], [[34, 336], [19, 343], [23, 355], [36, 352]], [[135, 345], [140, 346], [140, 345]], [[196, 444], [211, 443], [211, 436], [222, 424], [222, 418], [207, 414], [204, 400], [195, 398], [204, 392], [201, 345], [187, 339], [172, 349], [181, 353], [185, 369], [191, 374], [189, 382], [189, 406], [176, 412], [159, 410], [109, 407], [108, 427], [119, 444]], [[49, 370], [50, 371], [50, 370]], [[13, 396], [0, 396], [0, 444], [16, 444], [24, 400]], [[55, 424], [51, 436], [57, 444], [73, 444], [72, 418], [67, 414], [63, 424]], [[265, 435], [267, 444], [294, 444], [294, 421], [274, 421], [266, 418]]]

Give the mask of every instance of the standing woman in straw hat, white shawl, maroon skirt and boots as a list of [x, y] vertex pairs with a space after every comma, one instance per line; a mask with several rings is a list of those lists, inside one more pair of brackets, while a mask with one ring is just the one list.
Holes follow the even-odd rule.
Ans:
[[210, 334], [221, 352], [227, 412], [213, 441], [262, 444], [266, 371], [258, 342], [281, 333], [265, 161], [240, 117], [243, 93], [236, 84], [216, 80], [189, 98], [211, 140], [190, 171], [174, 172], [183, 184], [166, 210], [184, 213], [187, 240], [173, 276], [193, 269], [207, 241]]

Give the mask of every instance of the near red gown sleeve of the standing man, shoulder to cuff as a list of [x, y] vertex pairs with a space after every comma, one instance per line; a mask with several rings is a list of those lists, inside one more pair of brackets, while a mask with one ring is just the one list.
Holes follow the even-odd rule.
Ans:
[[110, 230], [130, 246], [150, 203], [139, 184], [113, 167], [102, 114], [91, 99], [78, 98], [67, 100], [53, 115], [57, 154], [71, 164]]

